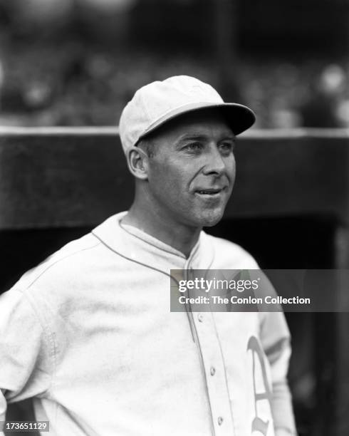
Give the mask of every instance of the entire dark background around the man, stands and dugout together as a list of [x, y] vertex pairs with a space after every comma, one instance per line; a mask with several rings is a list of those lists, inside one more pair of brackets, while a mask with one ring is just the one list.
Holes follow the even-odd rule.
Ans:
[[[209, 232], [263, 268], [349, 268], [348, 18], [349, 0], [0, 0], [0, 293], [132, 199], [115, 133], [21, 127], [115, 127], [177, 74], [257, 115]], [[299, 435], [349, 435], [348, 313], [286, 315]]]

